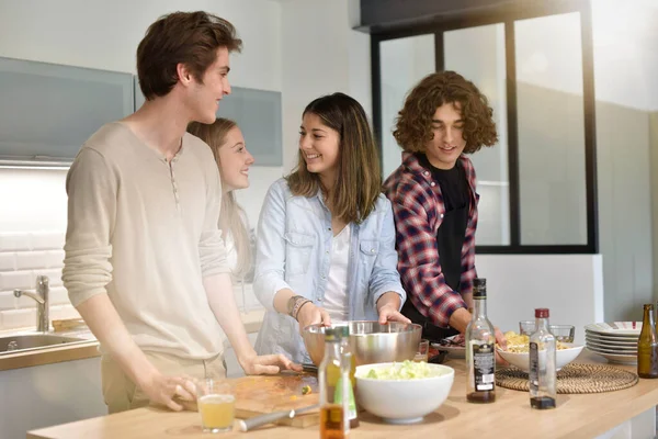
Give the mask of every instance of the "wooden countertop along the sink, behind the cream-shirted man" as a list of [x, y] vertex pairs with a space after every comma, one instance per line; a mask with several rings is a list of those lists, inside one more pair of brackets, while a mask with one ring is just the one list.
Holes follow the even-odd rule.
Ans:
[[[240, 314], [242, 323], [247, 333], [258, 333], [262, 320], [264, 311], [251, 311], [249, 313]], [[12, 336], [19, 334], [37, 334], [30, 330], [14, 330], [14, 331], [2, 331], [1, 336]], [[29, 350], [24, 352], [4, 353], [0, 356], [0, 371], [30, 368], [33, 365], [44, 365], [58, 363], [63, 361], [83, 360], [88, 358], [100, 357], [99, 342], [93, 335], [87, 329], [68, 330], [63, 333], [52, 333], [59, 336], [71, 336], [86, 338], [89, 341], [75, 342], [70, 345], [57, 345], [54, 347], [47, 347], [43, 349]]]

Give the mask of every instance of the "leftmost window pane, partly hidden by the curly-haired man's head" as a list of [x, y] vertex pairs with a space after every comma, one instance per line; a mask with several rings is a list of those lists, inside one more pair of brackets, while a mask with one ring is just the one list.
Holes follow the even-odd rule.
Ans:
[[435, 71], [434, 34], [388, 40], [379, 43], [382, 66], [382, 161], [386, 179], [401, 164], [401, 149], [393, 137], [395, 119], [407, 93], [418, 81]]

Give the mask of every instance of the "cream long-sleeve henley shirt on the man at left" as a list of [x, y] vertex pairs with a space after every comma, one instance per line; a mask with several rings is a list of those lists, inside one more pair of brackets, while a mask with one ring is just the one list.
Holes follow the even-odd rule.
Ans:
[[185, 133], [168, 164], [111, 123], [82, 146], [66, 187], [63, 280], [71, 303], [106, 293], [145, 351], [220, 353], [225, 336], [203, 288], [203, 278], [229, 272], [208, 146]]

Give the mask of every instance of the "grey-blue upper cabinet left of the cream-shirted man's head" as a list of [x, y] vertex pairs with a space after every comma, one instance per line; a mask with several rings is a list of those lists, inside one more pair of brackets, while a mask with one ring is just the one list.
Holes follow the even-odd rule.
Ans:
[[0, 160], [70, 161], [133, 105], [131, 74], [0, 57]]

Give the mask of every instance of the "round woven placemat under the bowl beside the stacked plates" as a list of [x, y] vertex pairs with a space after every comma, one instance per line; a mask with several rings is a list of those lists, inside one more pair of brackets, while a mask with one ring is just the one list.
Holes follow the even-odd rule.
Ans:
[[[557, 372], [557, 393], [602, 393], [621, 391], [637, 384], [633, 372], [606, 364], [565, 365]], [[496, 385], [529, 392], [527, 373], [514, 367], [496, 371]]]

